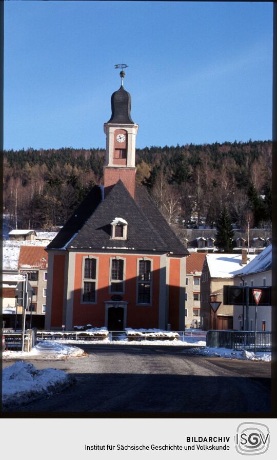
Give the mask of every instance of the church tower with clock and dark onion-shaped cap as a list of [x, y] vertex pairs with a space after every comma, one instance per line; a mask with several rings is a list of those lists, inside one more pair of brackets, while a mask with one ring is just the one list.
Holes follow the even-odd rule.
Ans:
[[135, 196], [135, 137], [138, 125], [131, 119], [131, 95], [123, 87], [125, 72], [120, 72], [121, 87], [111, 97], [111, 118], [104, 124], [106, 161], [104, 166], [105, 196], [122, 180]]

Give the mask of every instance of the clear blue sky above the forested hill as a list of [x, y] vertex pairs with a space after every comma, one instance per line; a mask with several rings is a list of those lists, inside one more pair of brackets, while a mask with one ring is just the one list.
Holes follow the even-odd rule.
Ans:
[[105, 147], [124, 87], [136, 145], [272, 138], [272, 3], [5, 2], [4, 147]]

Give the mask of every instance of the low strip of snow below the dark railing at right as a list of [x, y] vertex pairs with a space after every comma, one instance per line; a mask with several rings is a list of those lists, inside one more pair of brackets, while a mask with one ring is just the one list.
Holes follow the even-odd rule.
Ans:
[[192, 348], [188, 351], [193, 355], [201, 355], [215, 358], [229, 358], [229, 359], [247, 359], [251, 361], [271, 361], [271, 353], [263, 352], [250, 352], [244, 351], [233, 351], [229, 348], [216, 348], [216, 347], [204, 347], [204, 348]]

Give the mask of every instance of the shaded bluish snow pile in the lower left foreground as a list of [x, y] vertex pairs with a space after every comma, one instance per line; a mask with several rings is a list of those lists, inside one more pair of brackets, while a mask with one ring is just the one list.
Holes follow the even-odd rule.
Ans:
[[74, 383], [74, 378], [57, 369], [37, 370], [31, 363], [17, 361], [3, 370], [3, 409], [42, 398]]

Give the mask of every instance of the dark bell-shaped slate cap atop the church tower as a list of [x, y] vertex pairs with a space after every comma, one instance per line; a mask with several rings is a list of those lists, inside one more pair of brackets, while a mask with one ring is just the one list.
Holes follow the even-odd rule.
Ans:
[[111, 96], [112, 114], [108, 123], [134, 123], [131, 119], [131, 94], [123, 86]]

